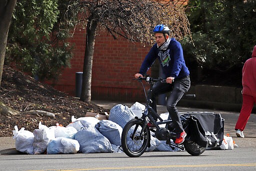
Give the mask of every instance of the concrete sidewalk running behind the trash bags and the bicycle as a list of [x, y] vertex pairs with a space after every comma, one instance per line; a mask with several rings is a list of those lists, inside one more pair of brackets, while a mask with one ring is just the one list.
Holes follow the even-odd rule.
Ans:
[[[93, 100], [95, 104], [104, 107], [106, 109], [111, 109], [116, 104], [124, 104], [130, 107], [134, 102], [118, 102], [118, 101], [106, 101], [106, 100]], [[224, 121], [224, 134], [229, 133], [233, 140], [239, 147], [256, 147], [256, 114], [252, 113], [246, 124], [244, 130], [244, 138], [238, 138], [235, 135], [234, 126], [236, 120], [239, 116], [239, 112], [233, 111], [222, 111], [213, 109], [203, 109], [203, 108], [191, 108], [191, 107], [178, 107], [178, 111], [210, 111], [214, 113], [220, 113], [225, 119]], [[157, 112], [165, 113], [166, 106], [158, 105]], [[6, 153], [11, 151], [10, 148], [15, 148], [15, 140], [12, 137], [0, 137], [0, 153]], [[12, 149], [13, 152], [13, 149]]]

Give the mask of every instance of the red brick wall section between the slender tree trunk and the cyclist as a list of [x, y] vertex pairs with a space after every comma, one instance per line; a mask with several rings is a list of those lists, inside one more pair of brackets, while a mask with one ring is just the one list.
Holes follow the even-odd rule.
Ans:
[[132, 78], [149, 47], [124, 38], [114, 40], [104, 34], [97, 36], [92, 64], [92, 98], [129, 100], [141, 94], [138, 82]]

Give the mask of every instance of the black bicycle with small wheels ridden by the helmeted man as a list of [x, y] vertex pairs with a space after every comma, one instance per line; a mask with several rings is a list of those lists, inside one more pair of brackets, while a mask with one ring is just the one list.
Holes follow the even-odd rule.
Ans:
[[[121, 145], [125, 154], [130, 157], [138, 157], [142, 155], [146, 148], [150, 147], [150, 131], [154, 132], [157, 139], [166, 140], [166, 144], [168, 144], [172, 149], [174, 149], [175, 147], [178, 147], [181, 150], [185, 149], [191, 155], [199, 155], [204, 152], [207, 146], [198, 145], [190, 138], [190, 131], [187, 130], [189, 129], [189, 112], [179, 112], [182, 126], [183, 129], [186, 131], [187, 136], [185, 137], [183, 145], [175, 144], [173, 141], [175, 141], [177, 135], [175, 133], [175, 128], [172, 126], [172, 120], [170, 116], [168, 116], [167, 120], [163, 120], [150, 106], [152, 100], [150, 98], [147, 98], [147, 93], [145, 91], [144, 83], [142, 82], [142, 80], [148, 82], [151, 89], [155, 82], [166, 82], [166, 79], [139, 77], [135, 80], [141, 82], [143, 86], [146, 97], [146, 104], [145, 110], [142, 112], [141, 118], [135, 117], [128, 121], [123, 127], [121, 135]], [[154, 118], [158, 119], [155, 121]], [[153, 126], [148, 126], [148, 123]], [[165, 127], [160, 127], [159, 125], [161, 124], [165, 124]]]

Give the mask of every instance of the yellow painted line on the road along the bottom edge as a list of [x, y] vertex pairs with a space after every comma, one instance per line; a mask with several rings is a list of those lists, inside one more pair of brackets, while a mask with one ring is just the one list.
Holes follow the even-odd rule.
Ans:
[[27, 171], [45, 171], [45, 170], [62, 170], [62, 171], [77, 171], [77, 170], [112, 170], [112, 169], [132, 169], [132, 168], [168, 168], [168, 167], [216, 167], [216, 166], [256, 166], [256, 163], [243, 164], [192, 164], [192, 165], [141, 165], [141, 166], [125, 166], [125, 167], [99, 167], [99, 168], [67, 168], [67, 169], [42, 169], [42, 170], [27, 170]]

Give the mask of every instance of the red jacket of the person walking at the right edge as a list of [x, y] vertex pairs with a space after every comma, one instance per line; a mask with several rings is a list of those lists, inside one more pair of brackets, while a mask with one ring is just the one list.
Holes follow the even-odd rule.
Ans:
[[242, 93], [256, 97], [256, 45], [242, 68]]

